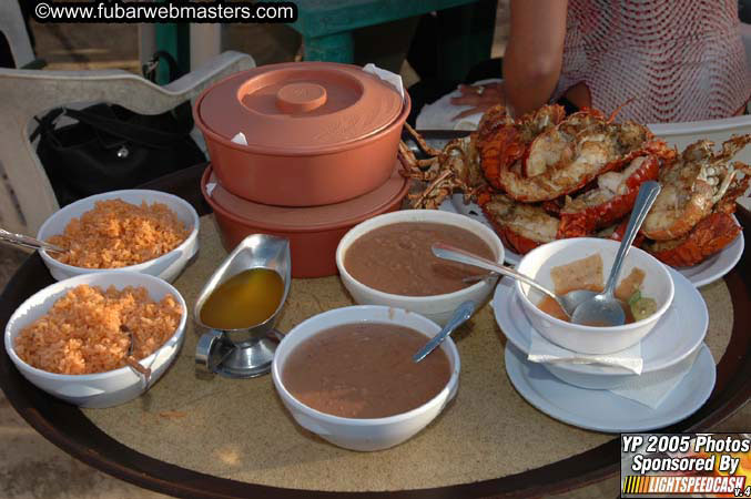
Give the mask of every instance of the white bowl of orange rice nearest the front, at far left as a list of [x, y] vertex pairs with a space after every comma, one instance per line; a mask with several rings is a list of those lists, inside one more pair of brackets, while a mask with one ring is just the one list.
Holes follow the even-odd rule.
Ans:
[[[85, 274], [23, 302], [6, 326], [6, 352], [48, 394], [81, 407], [112, 407], [146, 391], [174, 361], [186, 310], [177, 289], [159, 277]], [[132, 357], [151, 369], [149, 377], [125, 364], [131, 338]]]

